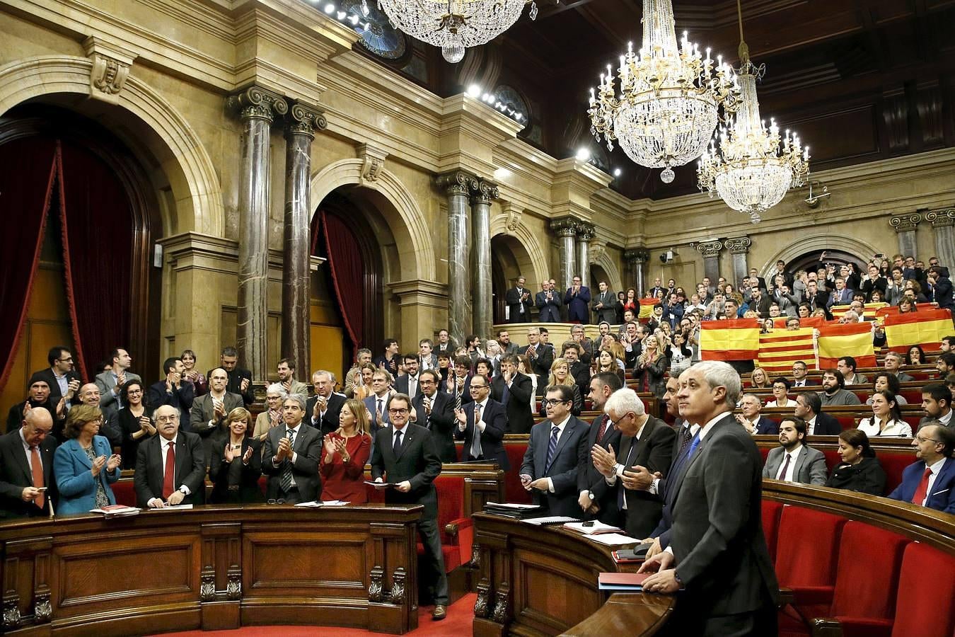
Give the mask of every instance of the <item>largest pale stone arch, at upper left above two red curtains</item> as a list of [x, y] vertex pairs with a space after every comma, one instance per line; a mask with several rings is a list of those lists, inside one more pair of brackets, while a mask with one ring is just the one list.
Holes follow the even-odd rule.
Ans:
[[[37, 97], [89, 96], [92, 70], [90, 59], [72, 55], [39, 55], [0, 66], [0, 114]], [[172, 188], [176, 206], [163, 215], [164, 234], [195, 230], [222, 237], [222, 188], [199, 136], [159, 92], [134, 74], [117, 98], [119, 109], [145, 125], [147, 134], [140, 141], [153, 153], [153, 163], [162, 166]]]

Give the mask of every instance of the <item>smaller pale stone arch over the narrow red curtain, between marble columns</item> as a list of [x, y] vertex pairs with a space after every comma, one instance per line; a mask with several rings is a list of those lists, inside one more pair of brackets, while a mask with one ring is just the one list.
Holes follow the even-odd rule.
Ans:
[[401, 271], [393, 279], [436, 281], [431, 228], [414, 197], [388, 170], [382, 170], [374, 181], [364, 180], [361, 175], [363, 165], [361, 159], [341, 159], [315, 173], [311, 178], [312, 213], [332, 190], [341, 186], [361, 185], [377, 192], [383, 198], [382, 202], [388, 204], [378, 206], [378, 210], [388, 223], [395, 242], [398, 245], [411, 245], [414, 252], [414, 262], [399, 256]]

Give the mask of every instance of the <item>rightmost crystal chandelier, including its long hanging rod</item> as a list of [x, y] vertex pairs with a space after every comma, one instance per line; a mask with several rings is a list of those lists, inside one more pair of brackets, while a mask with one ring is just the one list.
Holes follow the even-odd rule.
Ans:
[[[739, 11], [739, 0], [736, 0]], [[743, 14], [739, 12], [739, 59], [737, 77], [742, 87], [742, 105], [729, 130], [720, 132], [719, 148], [711, 141], [700, 158], [697, 177], [700, 190], [715, 191], [733, 210], [750, 215], [759, 223], [760, 213], [782, 201], [786, 192], [803, 184], [809, 174], [809, 147], [786, 131], [781, 142], [779, 129], [770, 120], [767, 130], [759, 118], [756, 80], [764, 67], [755, 67], [743, 41]]]

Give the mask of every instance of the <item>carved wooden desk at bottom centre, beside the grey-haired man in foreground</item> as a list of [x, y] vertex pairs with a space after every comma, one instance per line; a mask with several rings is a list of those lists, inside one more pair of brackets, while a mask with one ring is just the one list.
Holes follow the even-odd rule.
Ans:
[[[475, 637], [500, 635], [651, 635], [662, 626], [673, 598], [607, 595], [597, 589], [604, 571], [635, 571], [617, 564], [610, 548], [553, 526], [534, 526], [477, 513], [475, 557], [479, 569], [473, 630]], [[654, 598], [650, 600], [650, 598]], [[601, 611], [597, 617], [588, 619]], [[621, 621], [625, 618], [626, 621]]]

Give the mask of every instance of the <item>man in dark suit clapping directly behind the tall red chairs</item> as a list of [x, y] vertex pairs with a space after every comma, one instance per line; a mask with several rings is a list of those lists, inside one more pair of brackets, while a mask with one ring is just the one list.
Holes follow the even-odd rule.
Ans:
[[490, 397], [491, 385], [486, 376], [475, 374], [471, 378], [471, 395], [474, 401], [455, 414], [455, 437], [464, 440], [461, 461], [497, 460], [499, 467], [507, 471], [511, 463], [504, 451], [507, 432], [504, 407]]

